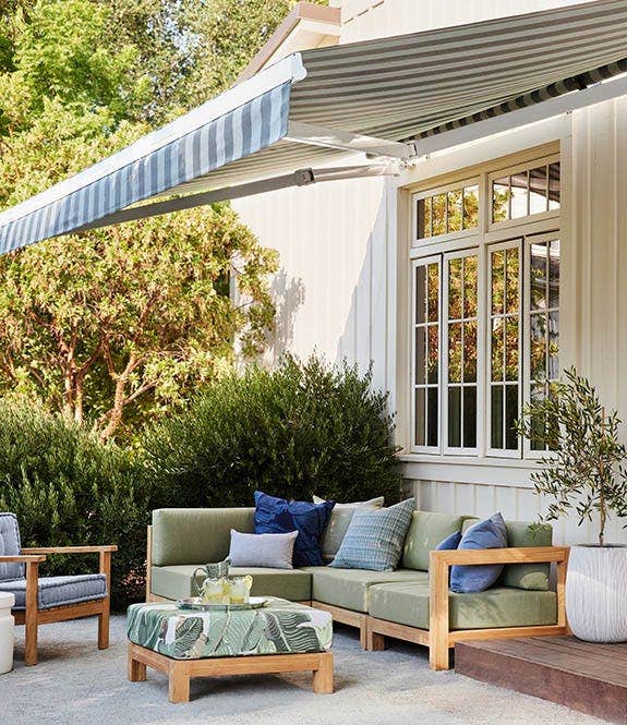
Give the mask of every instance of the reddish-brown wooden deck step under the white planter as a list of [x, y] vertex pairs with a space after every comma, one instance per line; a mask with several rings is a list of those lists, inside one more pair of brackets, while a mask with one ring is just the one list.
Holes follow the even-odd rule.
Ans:
[[575, 637], [459, 642], [461, 675], [627, 724], [627, 643], [594, 644]]

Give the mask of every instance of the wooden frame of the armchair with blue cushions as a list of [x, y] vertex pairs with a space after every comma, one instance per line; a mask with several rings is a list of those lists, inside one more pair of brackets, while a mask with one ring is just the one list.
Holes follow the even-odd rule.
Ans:
[[[46, 546], [37, 548], [23, 548], [22, 554], [15, 556], [0, 556], [0, 564], [26, 565], [26, 606], [24, 609], [13, 609], [16, 625], [25, 625], [24, 662], [27, 665], [37, 664], [37, 628], [55, 621], [81, 619], [82, 617], [98, 617], [98, 649], [109, 647], [109, 612], [111, 595], [111, 554], [118, 547], [111, 546]], [[39, 564], [46, 560], [47, 554], [99, 554], [99, 573], [107, 577], [107, 596], [92, 602], [81, 602], [67, 606], [38, 608]]]

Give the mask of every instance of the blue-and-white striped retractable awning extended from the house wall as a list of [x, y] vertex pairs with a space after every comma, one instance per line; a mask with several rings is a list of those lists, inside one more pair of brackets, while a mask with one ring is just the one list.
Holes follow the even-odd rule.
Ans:
[[0, 214], [0, 253], [270, 189], [390, 173], [389, 159], [627, 95], [627, 78], [616, 78], [625, 72], [626, 0], [296, 53]]

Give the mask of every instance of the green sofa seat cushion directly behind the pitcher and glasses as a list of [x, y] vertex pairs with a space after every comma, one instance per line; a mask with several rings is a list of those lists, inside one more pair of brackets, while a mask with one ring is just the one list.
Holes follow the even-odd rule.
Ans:
[[[153, 567], [152, 592], [168, 600], [194, 596], [192, 577], [196, 564]], [[267, 569], [264, 567], [231, 567], [233, 577], [248, 573], [253, 578], [253, 596], [279, 596], [290, 602], [311, 600], [311, 573], [301, 569]]]

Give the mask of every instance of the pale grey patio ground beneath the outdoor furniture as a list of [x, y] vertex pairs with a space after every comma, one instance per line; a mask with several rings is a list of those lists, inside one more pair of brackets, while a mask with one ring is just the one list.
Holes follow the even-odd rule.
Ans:
[[126, 681], [123, 617], [111, 620], [111, 648], [96, 649], [96, 621], [40, 630], [40, 664], [23, 665], [17, 628], [15, 669], [0, 676], [2, 725], [593, 725], [603, 721], [535, 698], [429, 669], [426, 650], [393, 642], [359, 649], [337, 628], [336, 692], [313, 694], [311, 676], [192, 680], [192, 702], [168, 702], [167, 679], [148, 670]]

